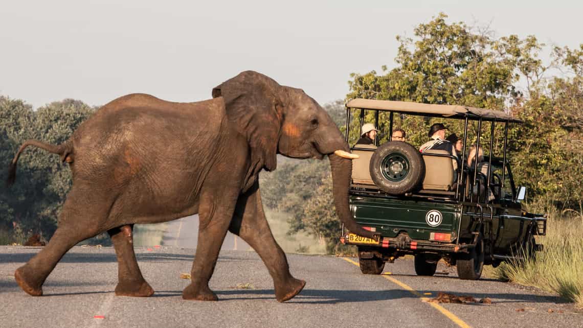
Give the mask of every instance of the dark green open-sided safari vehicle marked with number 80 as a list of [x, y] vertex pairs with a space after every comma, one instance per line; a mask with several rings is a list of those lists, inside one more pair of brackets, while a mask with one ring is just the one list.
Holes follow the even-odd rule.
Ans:
[[[420, 276], [433, 276], [437, 262], [444, 259], [457, 266], [459, 278], [476, 280], [484, 264], [519, 263], [542, 251], [535, 235], [546, 234], [546, 217], [525, 209], [526, 188], [515, 187], [507, 158], [508, 125], [521, 121], [501, 111], [458, 105], [354, 99], [346, 107], [346, 126], [354, 109], [361, 110], [360, 126], [365, 112], [374, 111], [378, 126], [379, 112], [388, 111], [389, 138], [394, 113], [465, 121], [459, 158], [445, 150], [420, 153], [409, 143], [391, 139], [380, 146], [377, 138], [377, 144], [352, 148], [360, 157], [353, 160], [350, 210], [357, 223], [380, 234], [375, 241], [342, 230], [340, 241], [358, 246], [363, 273], [380, 274], [385, 262], [414, 255]], [[490, 125], [489, 154], [472, 167], [463, 160], [469, 121], [477, 124], [478, 149], [482, 125]], [[504, 146], [495, 153], [496, 124], [504, 124]], [[488, 164], [485, 170], [482, 163]]]

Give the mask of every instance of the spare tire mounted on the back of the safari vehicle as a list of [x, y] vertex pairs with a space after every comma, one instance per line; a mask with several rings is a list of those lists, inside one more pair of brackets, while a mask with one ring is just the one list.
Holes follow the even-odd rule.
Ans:
[[425, 177], [425, 162], [415, 147], [402, 141], [382, 144], [370, 159], [374, 184], [389, 195], [403, 195], [419, 189]]

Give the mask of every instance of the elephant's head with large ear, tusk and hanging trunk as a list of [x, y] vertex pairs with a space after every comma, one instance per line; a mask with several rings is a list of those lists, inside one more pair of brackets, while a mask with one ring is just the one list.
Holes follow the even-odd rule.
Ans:
[[245, 71], [212, 90], [223, 97], [227, 116], [251, 147], [254, 174], [275, 170], [276, 155], [293, 158], [323, 158], [332, 169], [333, 193], [338, 217], [345, 227], [368, 238], [350, 215], [348, 189], [352, 154], [338, 126], [318, 103], [303, 90], [281, 86], [268, 76]]

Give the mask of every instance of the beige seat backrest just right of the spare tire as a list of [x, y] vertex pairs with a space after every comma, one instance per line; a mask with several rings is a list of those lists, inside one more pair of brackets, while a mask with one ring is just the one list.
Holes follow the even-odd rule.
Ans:
[[455, 171], [451, 157], [429, 156], [426, 154], [449, 155], [447, 150], [426, 150], [422, 153], [425, 161], [423, 189], [449, 191], [454, 185]]

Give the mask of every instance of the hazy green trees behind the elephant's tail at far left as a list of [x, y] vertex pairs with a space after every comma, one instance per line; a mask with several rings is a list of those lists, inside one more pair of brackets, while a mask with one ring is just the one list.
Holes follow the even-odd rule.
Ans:
[[[2, 177], [25, 140], [60, 144], [92, 112], [78, 100], [56, 101], [33, 111], [22, 100], [0, 97]], [[0, 192], [0, 230], [41, 232], [48, 239], [71, 188], [71, 171], [58, 156], [29, 147], [20, 157], [17, 177], [15, 185]]]

